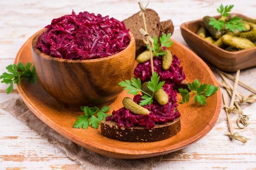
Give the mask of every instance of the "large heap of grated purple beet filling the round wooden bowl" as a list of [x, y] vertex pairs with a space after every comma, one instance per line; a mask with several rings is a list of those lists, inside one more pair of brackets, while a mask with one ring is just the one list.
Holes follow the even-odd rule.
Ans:
[[52, 57], [88, 60], [114, 55], [130, 42], [123, 22], [109, 16], [72, 11], [52, 20], [39, 37], [37, 48]]

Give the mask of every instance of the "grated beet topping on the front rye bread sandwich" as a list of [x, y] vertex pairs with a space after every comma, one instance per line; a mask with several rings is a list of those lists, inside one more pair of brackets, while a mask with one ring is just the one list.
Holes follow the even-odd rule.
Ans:
[[[174, 108], [178, 106], [177, 91], [173, 90], [174, 84], [164, 84], [163, 90], [168, 94], [169, 101], [166, 105], [162, 106], [157, 101], [151, 105], [145, 105], [144, 108], [150, 111], [149, 115], [135, 115], [126, 108], [120, 108], [113, 111], [112, 116], [106, 117], [106, 120], [112, 120], [118, 123], [121, 127], [145, 126], [151, 129], [155, 124], [165, 124], [171, 122], [175, 118], [180, 117], [178, 110]], [[142, 100], [141, 95], [134, 96], [133, 101], [137, 104]]]

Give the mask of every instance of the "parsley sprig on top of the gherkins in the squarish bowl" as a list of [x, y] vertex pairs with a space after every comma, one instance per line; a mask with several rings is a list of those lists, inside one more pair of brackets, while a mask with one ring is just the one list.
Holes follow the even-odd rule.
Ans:
[[238, 16], [235, 16], [230, 19], [230, 21], [225, 21], [225, 19], [228, 16], [230, 16], [230, 11], [234, 7], [234, 5], [226, 5], [225, 7], [221, 4], [220, 8], [217, 9], [218, 13], [220, 13], [221, 17], [219, 20], [216, 20], [215, 18], [211, 18], [209, 25], [213, 25], [213, 28], [217, 29], [218, 31], [225, 29], [230, 30], [232, 32], [235, 32], [235, 29], [239, 31], [245, 31], [244, 23], [242, 23], [242, 18], [239, 18]]

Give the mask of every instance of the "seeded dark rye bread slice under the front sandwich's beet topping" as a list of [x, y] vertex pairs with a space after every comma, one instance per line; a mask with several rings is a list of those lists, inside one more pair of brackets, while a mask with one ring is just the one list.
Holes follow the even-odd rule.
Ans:
[[174, 119], [173, 122], [156, 124], [149, 130], [144, 126], [127, 128], [119, 127], [114, 121], [102, 121], [100, 123], [100, 131], [107, 138], [123, 142], [155, 142], [176, 135], [180, 131], [180, 117]]

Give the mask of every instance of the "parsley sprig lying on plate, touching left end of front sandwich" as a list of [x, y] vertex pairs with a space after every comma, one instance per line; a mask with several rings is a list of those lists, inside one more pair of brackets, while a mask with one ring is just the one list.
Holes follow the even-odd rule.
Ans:
[[[101, 109], [98, 107], [89, 108], [88, 106], [81, 107], [81, 110], [85, 113], [84, 115], [78, 116], [73, 128], [87, 129], [90, 125], [94, 129], [98, 129], [99, 124], [102, 120], [106, 120], [109, 114], [106, 112], [110, 109], [109, 106], [103, 106]], [[95, 116], [97, 115], [97, 117]]]

